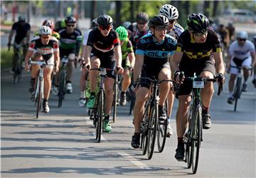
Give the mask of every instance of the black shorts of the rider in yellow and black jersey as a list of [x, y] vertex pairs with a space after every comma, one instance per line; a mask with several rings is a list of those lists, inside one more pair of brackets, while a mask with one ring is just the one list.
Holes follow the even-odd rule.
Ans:
[[[213, 58], [210, 60], [196, 60], [196, 61], [188, 61], [181, 62], [179, 65], [181, 71], [184, 72], [185, 77], [193, 77], [194, 72], [196, 72], [196, 76], [200, 75], [201, 72], [208, 71], [215, 76], [215, 62]], [[180, 95], [190, 95], [192, 91], [193, 83], [188, 80], [184, 80], [183, 84], [178, 92], [176, 92], [176, 98]]]

